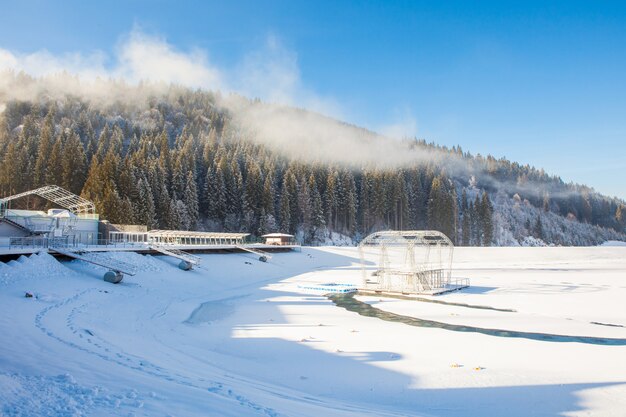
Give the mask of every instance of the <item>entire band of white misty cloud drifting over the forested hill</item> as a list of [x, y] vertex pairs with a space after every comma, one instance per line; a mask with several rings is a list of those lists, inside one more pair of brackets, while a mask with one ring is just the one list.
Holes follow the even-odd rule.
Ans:
[[[341, 106], [307, 88], [298, 55], [275, 35], [268, 36], [232, 70], [218, 68], [207, 51], [181, 50], [138, 28], [122, 37], [114, 51], [108, 56], [102, 51], [54, 55], [45, 50], [19, 54], [0, 49], [0, 70], [41, 77], [35, 82], [20, 80], [15, 73], [0, 77], [0, 104], [3, 98], [32, 100], [41, 94], [72, 94], [104, 105], [118, 100], [145, 104], [149, 95], [167, 92], [170, 84], [176, 84], [238, 93], [223, 95], [220, 104], [232, 110], [234, 120], [251, 140], [291, 158], [352, 166], [401, 166], [433, 157], [432, 153], [409, 151], [404, 142], [338, 121], [343, 117]], [[259, 97], [264, 103], [241, 96]], [[415, 120], [405, 111], [382, 132], [406, 138], [416, 129]]]

